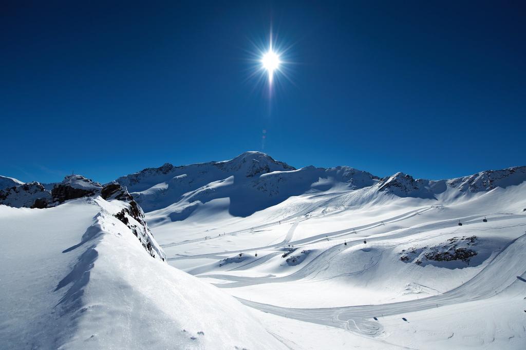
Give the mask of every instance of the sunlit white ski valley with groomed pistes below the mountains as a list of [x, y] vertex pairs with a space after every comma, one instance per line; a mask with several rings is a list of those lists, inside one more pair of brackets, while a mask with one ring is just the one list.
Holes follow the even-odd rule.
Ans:
[[[280, 223], [254, 220], [245, 230], [234, 227], [220, 236], [208, 231], [202, 240], [166, 243], [165, 251], [174, 266], [265, 312], [258, 315], [292, 348], [523, 348], [526, 217], [514, 213], [526, 204], [525, 190], [521, 185], [403, 213], [392, 204], [376, 206], [382, 220], [370, 210], [327, 211], [324, 201], [307, 214], [284, 215]], [[513, 204], [492, 212], [502, 197]], [[196, 230], [196, 222], [187, 224], [177, 231]], [[164, 230], [153, 229], [160, 242], [168, 235]], [[472, 236], [477, 255], [469, 264], [400, 260], [404, 251], [419, 253]], [[291, 320], [308, 324], [291, 331]], [[343, 332], [311, 330], [312, 324]]]

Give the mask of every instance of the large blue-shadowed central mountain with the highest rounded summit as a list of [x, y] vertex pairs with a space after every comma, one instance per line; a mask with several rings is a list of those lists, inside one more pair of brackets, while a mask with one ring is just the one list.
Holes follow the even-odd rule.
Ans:
[[294, 195], [363, 188], [377, 181], [372, 174], [349, 167], [296, 170], [261, 152], [245, 152], [222, 162], [165, 164], [116, 180], [146, 212], [163, 210], [171, 221], [184, 220], [201, 205], [220, 198], [229, 198], [231, 215], [247, 217]]

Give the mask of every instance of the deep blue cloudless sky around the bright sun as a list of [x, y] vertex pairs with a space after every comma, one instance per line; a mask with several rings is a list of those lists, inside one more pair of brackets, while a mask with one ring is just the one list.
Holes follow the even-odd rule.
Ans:
[[[72, 4], [77, 3], [77, 4]], [[440, 179], [526, 164], [524, 2], [4, 2], [0, 174], [106, 182], [264, 151]], [[292, 45], [291, 82], [248, 79]]]

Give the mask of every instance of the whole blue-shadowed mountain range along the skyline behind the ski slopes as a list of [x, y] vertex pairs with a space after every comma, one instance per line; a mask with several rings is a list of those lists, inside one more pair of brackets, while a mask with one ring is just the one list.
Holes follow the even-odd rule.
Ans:
[[286, 199], [308, 193], [361, 191], [349, 205], [375, 202], [379, 194], [452, 201], [464, 194], [506, 188], [526, 180], [526, 167], [483, 171], [451, 180], [414, 179], [398, 172], [380, 179], [349, 167], [295, 169], [261, 152], [245, 152], [222, 162], [174, 167], [164, 164], [116, 181], [127, 187], [146, 212], [163, 211], [171, 221], [184, 220], [201, 205], [229, 200], [228, 212], [248, 217]]

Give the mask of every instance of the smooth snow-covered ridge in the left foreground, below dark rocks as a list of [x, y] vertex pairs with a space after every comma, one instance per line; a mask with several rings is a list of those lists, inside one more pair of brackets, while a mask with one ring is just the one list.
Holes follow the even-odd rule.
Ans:
[[145, 253], [138, 223], [117, 218], [127, 208], [0, 206], [1, 348], [284, 348], [234, 298]]

